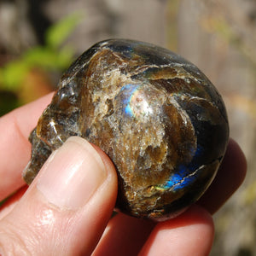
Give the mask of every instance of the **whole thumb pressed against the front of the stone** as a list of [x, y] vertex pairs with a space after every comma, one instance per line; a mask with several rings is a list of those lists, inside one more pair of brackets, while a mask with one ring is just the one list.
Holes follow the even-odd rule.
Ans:
[[100, 149], [71, 137], [0, 221], [1, 255], [90, 255], [113, 211], [117, 177]]

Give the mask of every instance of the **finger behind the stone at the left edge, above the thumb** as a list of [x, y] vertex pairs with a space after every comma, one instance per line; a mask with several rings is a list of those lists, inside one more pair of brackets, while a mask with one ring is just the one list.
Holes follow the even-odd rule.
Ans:
[[21, 177], [31, 156], [28, 137], [52, 93], [0, 118], [0, 201], [24, 185]]

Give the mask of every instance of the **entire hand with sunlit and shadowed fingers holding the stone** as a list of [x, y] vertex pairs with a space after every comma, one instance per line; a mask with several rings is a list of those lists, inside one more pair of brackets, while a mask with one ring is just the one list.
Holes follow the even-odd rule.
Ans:
[[154, 224], [119, 213], [109, 220], [116, 173], [108, 156], [82, 138], [52, 154], [28, 189], [22, 181], [31, 154], [27, 137], [51, 96], [0, 118], [0, 201], [14, 193], [0, 209], [0, 255], [207, 255], [211, 214], [245, 177], [239, 146], [230, 139], [206, 194], [177, 218]]

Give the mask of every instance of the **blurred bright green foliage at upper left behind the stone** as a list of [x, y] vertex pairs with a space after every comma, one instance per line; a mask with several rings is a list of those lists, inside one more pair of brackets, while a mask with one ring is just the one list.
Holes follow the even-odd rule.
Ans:
[[62, 72], [73, 61], [74, 49], [64, 44], [81, 16], [73, 14], [50, 26], [46, 44], [27, 49], [20, 58], [0, 67], [0, 116], [19, 104], [20, 84], [33, 69]]

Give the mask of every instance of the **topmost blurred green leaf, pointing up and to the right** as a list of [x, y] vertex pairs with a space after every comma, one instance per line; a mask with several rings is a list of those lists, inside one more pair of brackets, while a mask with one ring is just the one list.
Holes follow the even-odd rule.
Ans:
[[63, 44], [67, 37], [73, 32], [75, 26], [79, 24], [81, 15], [73, 14], [50, 26], [46, 32], [46, 44], [51, 49], [57, 49]]

